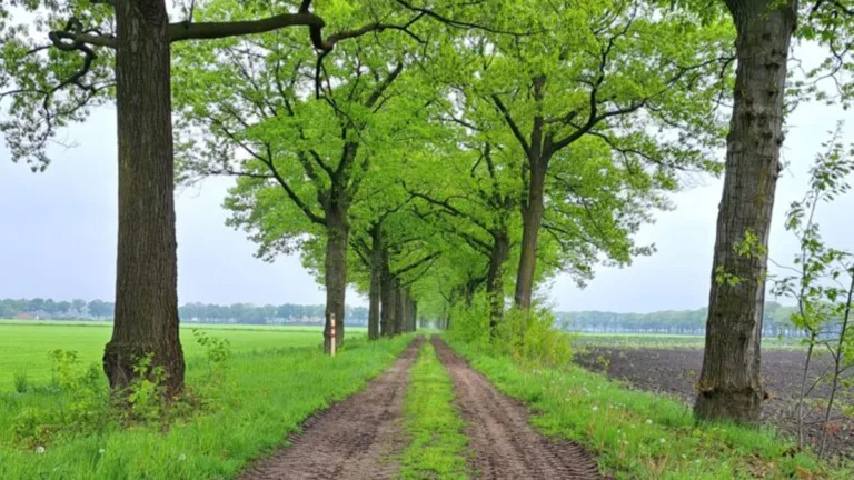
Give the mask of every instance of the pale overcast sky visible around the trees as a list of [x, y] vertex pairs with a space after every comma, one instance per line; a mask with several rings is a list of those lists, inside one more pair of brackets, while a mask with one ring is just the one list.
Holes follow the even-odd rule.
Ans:
[[[778, 182], [771, 256], [790, 262], [796, 243], [783, 229], [790, 202], [803, 196], [806, 171], [836, 121], [854, 140], [854, 116], [838, 108], [802, 106], [788, 119]], [[0, 149], [0, 298], [111, 299], [115, 288], [117, 164], [115, 110], [101, 109], [63, 134], [77, 147], [56, 148], [43, 173], [10, 161]], [[178, 288], [181, 303], [322, 303], [324, 291], [297, 257], [256, 259], [244, 232], [225, 226], [221, 209], [231, 180], [214, 179], [177, 197]], [[642, 242], [658, 251], [623, 269], [598, 268], [584, 290], [567, 278], [550, 288], [559, 310], [649, 312], [706, 304], [722, 181], [704, 177], [673, 197], [677, 209], [657, 214]], [[854, 250], [854, 196], [824, 207], [825, 239]], [[365, 300], [350, 292], [350, 304]]]

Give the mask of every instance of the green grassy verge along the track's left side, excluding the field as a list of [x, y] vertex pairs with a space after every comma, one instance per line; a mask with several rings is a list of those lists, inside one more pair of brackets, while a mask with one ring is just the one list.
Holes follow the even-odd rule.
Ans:
[[[285, 444], [311, 412], [364, 388], [410, 340], [350, 340], [335, 358], [316, 348], [236, 353], [214, 407], [169, 431], [108, 424], [97, 434], [63, 434], [43, 453], [12, 443], [8, 432], [23, 409], [56, 408], [57, 393], [0, 393], [0, 479], [235, 478], [247, 461]], [[190, 359], [189, 388], [206, 381], [202, 358]]]

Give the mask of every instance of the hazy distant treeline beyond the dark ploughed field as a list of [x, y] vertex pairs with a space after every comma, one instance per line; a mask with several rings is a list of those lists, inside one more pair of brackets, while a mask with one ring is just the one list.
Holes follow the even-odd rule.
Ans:
[[[765, 303], [763, 334], [796, 337], [801, 332], [790, 320], [795, 307]], [[614, 313], [603, 311], [556, 312], [564, 330], [598, 333], [704, 334], [707, 309], [667, 310], [653, 313]]]

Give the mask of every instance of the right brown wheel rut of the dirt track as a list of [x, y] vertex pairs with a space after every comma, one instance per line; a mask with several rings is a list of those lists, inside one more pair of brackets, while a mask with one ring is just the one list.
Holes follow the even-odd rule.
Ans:
[[527, 409], [505, 397], [466, 364], [445, 342], [433, 338], [436, 353], [454, 380], [456, 404], [468, 427], [471, 467], [478, 479], [602, 479], [580, 447], [556, 442], [528, 423]]

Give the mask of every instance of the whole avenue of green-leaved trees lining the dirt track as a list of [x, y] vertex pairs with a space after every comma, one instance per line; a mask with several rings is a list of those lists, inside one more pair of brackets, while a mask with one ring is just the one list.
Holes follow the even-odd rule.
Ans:
[[[170, 393], [183, 384], [176, 182], [236, 178], [229, 224], [266, 260], [301, 254], [326, 286], [328, 348], [347, 286], [369, 298], [370, 338], [419, 312], [453, 328], [478, 298], [488, 338], [508, 298], [529, 312], [558, 273], [584, 284], [652, 254], [635, 233], [707, 172], [724, 192], [695, 413], [758, 420], [784, 119], [821, 78], [846, 100], [854, 2], [177, 3], [0, 6], [14, 160], [43, 169], [63, 126], [117, 107], [115, 389], [143, 353]], [[787, 83], [793, 38], [827, 60]]]

